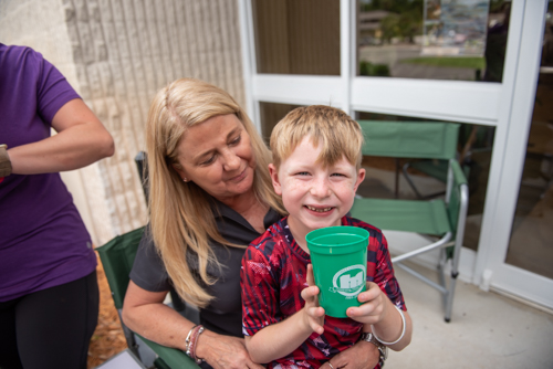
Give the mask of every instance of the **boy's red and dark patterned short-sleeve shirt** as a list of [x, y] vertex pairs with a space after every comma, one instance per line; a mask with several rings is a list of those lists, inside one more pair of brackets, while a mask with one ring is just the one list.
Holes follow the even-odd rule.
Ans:
[[[380, 230], [359, 220], [344, 217], [342, 225], [359, 226], [369, 232], [367, 281], [378, 284], [393, 304], [406, 309], [394, 276], [386, 239]], [[253, 336], [264, 327], [284, 320], [303, 308], [301, 291], [307, 287], [310, 255], [295, 242], [288, 218], [273, 224], [253, 241], [242, 260], [242, 327]], [[363, 324], [351, 318], [325, 316], [324, 333], [313, 333], [298, 349], [268, 368], [319, 368], [336, 354], [353, 346]]]

